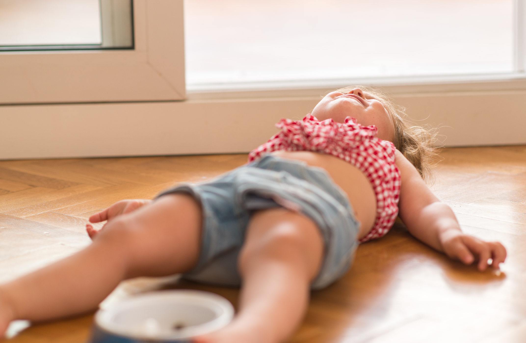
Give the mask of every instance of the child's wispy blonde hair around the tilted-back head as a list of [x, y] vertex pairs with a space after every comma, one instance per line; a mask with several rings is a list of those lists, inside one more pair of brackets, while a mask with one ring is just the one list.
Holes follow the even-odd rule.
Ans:
[[406, 109], [395, 105], [392, 99], [376, 88], [349, 86], [340, 88], [338, 91], [347, 93], [357, 87], [363, 90], [366, 97], [375, 98], [382, 103], [393, 124], [395, 124], [393, 140], [395, 147], [414, 165], [424, 181], [432, 183], [434, 181], [433, 167], [437, 164], [437, 149], [433, 147], [437, 137], [437, 129], [412, 125], [406, 115]]

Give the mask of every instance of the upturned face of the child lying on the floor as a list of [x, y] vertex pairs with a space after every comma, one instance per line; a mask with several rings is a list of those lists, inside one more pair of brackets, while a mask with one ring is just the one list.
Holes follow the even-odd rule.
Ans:
[[330, 92], [316, 105], [311, 113], [318, 120], [332, 118], [344, 122], [346, 117], [356, 118], [363, 126], [375, 125], [378, 138], [388, 141], [395, 139], [395, 125], [387, 110], [376, 98], [355, 88], [346, 94]]

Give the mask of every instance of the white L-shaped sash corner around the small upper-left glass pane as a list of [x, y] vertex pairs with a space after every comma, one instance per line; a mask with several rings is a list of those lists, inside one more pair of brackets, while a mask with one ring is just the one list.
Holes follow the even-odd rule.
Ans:
[[135, 0], [134, 49], [2, 51], [0, 104], [186, 98], [183, 0]]

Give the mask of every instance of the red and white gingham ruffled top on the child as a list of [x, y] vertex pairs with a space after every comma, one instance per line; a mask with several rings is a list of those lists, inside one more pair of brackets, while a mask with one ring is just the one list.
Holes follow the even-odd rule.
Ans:
[[319, 121], [310, 113], [302, 120], [281, 119], [281, 129], [265, 144], [252, 150], [248, 161], [276, 150], [307, 150], [334, 155], [367, 176], [376, 194], [377, 215], [372, 230], [360, 242], [385, 235], [395, 223], [400, 197], [400, 171], [395, 164], [395, 145], [376, 137], [378, 129], [358, 124], [347, 117], [345, 123]]

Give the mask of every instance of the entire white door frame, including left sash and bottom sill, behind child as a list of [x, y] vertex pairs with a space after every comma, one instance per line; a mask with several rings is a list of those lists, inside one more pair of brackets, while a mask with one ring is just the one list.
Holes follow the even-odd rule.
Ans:
[[186, 90], [183, 0], [135, 0], [133, 51], [0, 54], [0, 159], [248, 152], [280, 118], [352, 84], [382, 87], [419, 124], [440, 127], [447, 146], [526, 144], [525, 1], [514, 3], [510, 74]]

